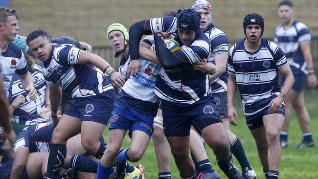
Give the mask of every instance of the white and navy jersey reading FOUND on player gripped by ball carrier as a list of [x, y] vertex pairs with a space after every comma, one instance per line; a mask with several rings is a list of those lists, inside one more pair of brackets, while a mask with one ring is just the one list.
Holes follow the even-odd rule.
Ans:
[[[144, 41], [152, 41], [153, 38], [146, 37]], [[126, 73], [130, 57], [121, 65], [119, 70], [121, 73]], [[157, 81], [158, 73], [161, 69], [161, 65], [146, 60], [140, 59], [141, 70], [137, 77], [130, 76], [121, 89], [116, 103], [125, 106], [134, 111], [156, 116], [159, 107], [160, 98], [155, 94], [154, 88]], [[126, 74], [122, 74], [126, 76]]]

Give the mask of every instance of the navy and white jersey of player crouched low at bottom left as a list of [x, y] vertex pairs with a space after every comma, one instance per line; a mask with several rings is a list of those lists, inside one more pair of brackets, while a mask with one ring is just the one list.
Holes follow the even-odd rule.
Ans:
[[50, 152], [52, 133], [56, 126], [52, 122], [45, 122], [24, 128], [17, 136], [14, 151], [27, 147], [29, 153]]

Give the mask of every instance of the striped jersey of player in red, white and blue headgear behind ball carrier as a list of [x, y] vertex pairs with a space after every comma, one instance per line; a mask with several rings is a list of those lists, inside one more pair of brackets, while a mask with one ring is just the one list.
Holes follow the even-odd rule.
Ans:
[[[212, 23], [210, 23], [203, 32], [209, 38], [211, 43], [211, 52], [208, 62], [215, 64], [214, 55], [218, 53], [227, 53], [228, 51], [227, 35]], [[211, 83], [212, 93], [227, 91], [227, 79], [228, 73], [226, 70], [219, 78]]]

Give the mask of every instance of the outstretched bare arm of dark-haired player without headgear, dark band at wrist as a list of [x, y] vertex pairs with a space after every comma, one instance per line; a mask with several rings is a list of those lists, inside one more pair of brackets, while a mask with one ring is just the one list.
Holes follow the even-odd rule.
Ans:
[[125, 84], [125, 77], [119, 72], [115, 71], [114, 68], [111, 67], [111, 65], [106, 60], [94, 53], [81, 50], [78, 57], [78, 64], [90, 63], [108, 74], [114, 86], [121, 88]]

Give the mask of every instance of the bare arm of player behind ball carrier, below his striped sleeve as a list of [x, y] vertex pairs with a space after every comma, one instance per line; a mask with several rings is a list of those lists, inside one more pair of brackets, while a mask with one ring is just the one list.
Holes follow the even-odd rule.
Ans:
[[216, 73], [209, 75], [209, 80], [214, 81], [225, 73], [227, 68], [227, 53], [218, 53], [214, 55]]

